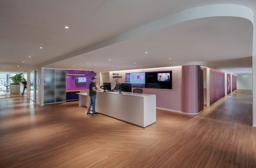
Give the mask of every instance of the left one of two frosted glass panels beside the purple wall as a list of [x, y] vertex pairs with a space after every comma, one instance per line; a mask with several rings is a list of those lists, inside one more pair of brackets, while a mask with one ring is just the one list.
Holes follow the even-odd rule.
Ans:
[[44, 104], [55, 102], [55, 70], [44, 70]]

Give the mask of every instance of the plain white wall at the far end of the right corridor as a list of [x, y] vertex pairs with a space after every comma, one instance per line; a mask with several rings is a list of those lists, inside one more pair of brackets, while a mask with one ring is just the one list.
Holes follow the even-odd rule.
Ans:
[[253, 89], [252, 75], [238, 75], [236, 76], [236, 89]]

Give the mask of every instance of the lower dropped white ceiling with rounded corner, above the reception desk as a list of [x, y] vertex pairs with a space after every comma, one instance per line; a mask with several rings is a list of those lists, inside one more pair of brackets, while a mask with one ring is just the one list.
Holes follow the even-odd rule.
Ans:
[[230, 73], [229, 68], [252, 67], [252, 42], [249, 20], [209, 17], [168, 26], [46, 67], [104, 72], [199, 64], [225, 67]]

